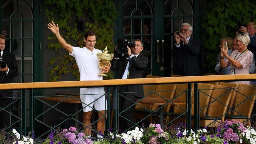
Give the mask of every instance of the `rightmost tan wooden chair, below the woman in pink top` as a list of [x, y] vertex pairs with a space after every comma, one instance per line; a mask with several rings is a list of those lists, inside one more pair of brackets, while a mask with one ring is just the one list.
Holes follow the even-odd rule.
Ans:
[[228, 120], [237, 120], [251, 125], [251, 113], [256, 99], [255, 85], [239, 84], [234, 99], [234, 112], [226, 115]]

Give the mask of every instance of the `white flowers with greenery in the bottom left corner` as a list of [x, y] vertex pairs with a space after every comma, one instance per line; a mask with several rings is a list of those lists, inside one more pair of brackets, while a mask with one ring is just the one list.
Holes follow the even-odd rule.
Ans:
[[[32, 135], [32, 138], [30, 137]], [[34, 131], [28, 133], [28, 136], [20, 137], [17, 130], [12, 129], [10, 132], [5, 132], [2, 130], [0, 133], [0, 144], [33, 144]]]

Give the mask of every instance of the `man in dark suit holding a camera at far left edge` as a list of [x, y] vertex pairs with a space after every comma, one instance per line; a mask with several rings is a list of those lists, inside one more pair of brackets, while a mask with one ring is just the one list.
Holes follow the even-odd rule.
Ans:
[[[5, 49], [5, 36], [0, 35], [0, 48], [1, 48], [1, 55], [0, 61], [5, 61], [6, 66], [4, 66], [0, 62], [0, 83], [12, 83], [12, 78], [17, 77], [18, 67], [16, 63], [15, 55], [4, 51]], [[11, 103], [11, 97], [13, 97], [13, 90], [2, 90], [0, 91], [0, 128], [4, 128], [5, 126], [10, 126], [10, 112], [11, 106], [6, 107]], [[4, 108], [4, 110], [3, 110]]]

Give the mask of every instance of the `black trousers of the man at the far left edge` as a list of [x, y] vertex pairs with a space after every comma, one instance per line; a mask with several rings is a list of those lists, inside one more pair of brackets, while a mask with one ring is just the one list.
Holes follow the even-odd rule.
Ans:
[[[8, 106], [7, 108], [5, 108], [3, 110], [4, 107], [6, 107], [7, 105], [9, 105], [11, 103], [11, 99], [10, 98], [2, 98], [2, 96], [0, 96], [0, 129], [5, 128], [6, 126], [10, 126], [10, 112], [11, 111], [11, 106]], [[8, 112], [6, 112], [8, 111]]]

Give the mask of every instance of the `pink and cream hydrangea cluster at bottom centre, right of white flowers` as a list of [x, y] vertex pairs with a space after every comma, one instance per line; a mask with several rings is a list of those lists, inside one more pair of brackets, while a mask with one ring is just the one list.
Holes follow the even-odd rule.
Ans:
[[164, 144], [169, 141], [170, 134], [164, 132], [160, 124], [150, 124], [141, 138], [145, 144]]

